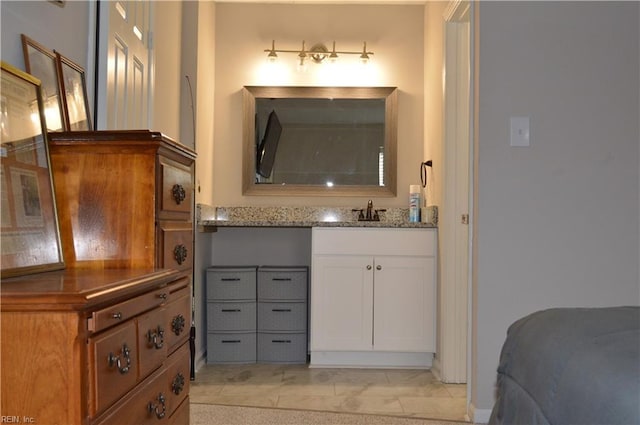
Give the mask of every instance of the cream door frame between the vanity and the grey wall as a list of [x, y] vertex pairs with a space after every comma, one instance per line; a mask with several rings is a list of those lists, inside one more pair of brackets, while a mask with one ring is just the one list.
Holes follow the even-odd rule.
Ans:
[[[453, 0], [447, 5], [443, 13], [443, 67], [444, 72], [444, 94], [443, 94], [443, 169], [444, 187], [442, 200], [442, 220], [439, 226], [441, 240], [441, 272], [440, 272], [440, 317], [441, 332], [440, 346], [438, 353], [438, 373], [443, 382], [467, 383], [467, 404], [470, 400], [470, 364], [471, 364], [471, 312], [470, 294], [472, 277], [472, 256], [471, 245], [473, 234], [473, 79], [471, 78], [471, 65], [473, 64], [473, 2], [469, 0]], [[465, 27], [462, 27], [464, 25]], [[468, 35], [467, 35], [468, 34]], [[458, 37], [467, 36], [468, 55], [460, 55]], [[453, 61], [451, 60], [453, 58]], [[451, 67], [453, 66], [453, 69]], [[447, 69], [449, 68], [449, 69]], [[465, 84], [468, 90], [467, 108], [463, 109], [464, 116], [458, 114], [455, 106], [459, 99], [460, 83]], [[462, 129], [461, 126], [465, 128]], [[460, 189], [456, 183], [456, 162], [460, 154], [455, 148], [458, 129], [466, 131], [468, 134], [468, 181], [466, 194], [459, 193]], [[467, 246], [456, 247], [455, 226], [458, 225], [461, 217], [456, 210], [456, 199], [459, 196], [467, 198], [468, 202], [468, 228]], [[461, 257], [458, 249], [464, 249], [466, 260], [459, 261]], [[457, 273], [466, 272], [462, 279], [456, 279]]]

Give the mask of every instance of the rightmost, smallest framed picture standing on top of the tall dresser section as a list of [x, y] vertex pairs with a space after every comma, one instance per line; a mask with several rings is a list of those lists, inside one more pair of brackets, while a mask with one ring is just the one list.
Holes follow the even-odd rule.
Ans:
[[87, 82], [84, 68], [54, 50], [58, 63], [62, 108], [65, 129], [68, 131], [91, 131]]

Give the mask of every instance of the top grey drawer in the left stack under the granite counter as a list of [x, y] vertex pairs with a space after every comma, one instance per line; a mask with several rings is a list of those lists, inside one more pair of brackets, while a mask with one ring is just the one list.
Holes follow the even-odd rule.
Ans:
[[207, 300], [255, 300], [256, 267], [207, 269]]

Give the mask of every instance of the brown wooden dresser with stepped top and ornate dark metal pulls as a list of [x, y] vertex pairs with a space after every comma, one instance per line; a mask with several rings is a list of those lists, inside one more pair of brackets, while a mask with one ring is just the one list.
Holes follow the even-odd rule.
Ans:
[[188, 424], [195, 153], [161, 133], [50, 133], [66, 269], [3, 279], [0, 414]]

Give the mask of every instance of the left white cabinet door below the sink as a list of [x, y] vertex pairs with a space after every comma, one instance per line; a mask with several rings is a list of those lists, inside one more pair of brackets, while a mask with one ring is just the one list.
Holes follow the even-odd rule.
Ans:
[[311, 350], [371, 350], [373, 259], [316, 255], [311, 280]]

